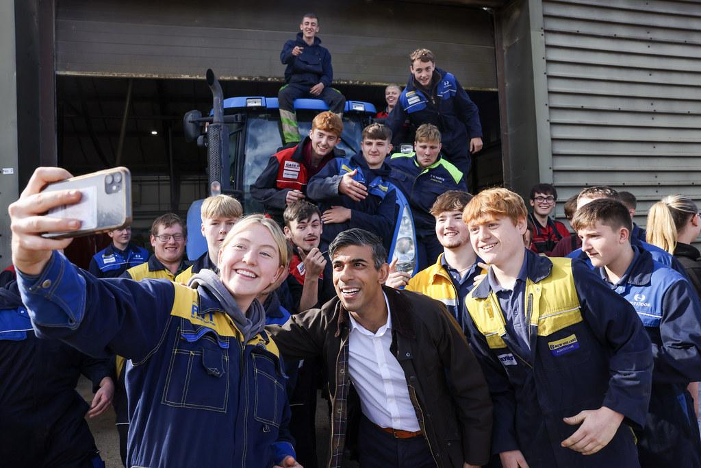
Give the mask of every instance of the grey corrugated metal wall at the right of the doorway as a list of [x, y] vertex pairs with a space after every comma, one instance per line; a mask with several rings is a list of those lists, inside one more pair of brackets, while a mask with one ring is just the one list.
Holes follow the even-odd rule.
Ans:
[[627, 190], [639, 225], [666, 194], [701, 201], [701, 4], [543, 1], [543, 25], [559, 199]]

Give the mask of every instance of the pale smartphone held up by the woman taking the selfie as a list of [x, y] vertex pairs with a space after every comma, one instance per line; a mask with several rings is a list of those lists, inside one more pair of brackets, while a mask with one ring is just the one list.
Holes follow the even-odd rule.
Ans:
[[47, 185], [42, 192], [77, 189], [83, 194], [75, 205], [64, 205], [47, 213], [53, 218], [74, 218], [82, 222], [81, 229], [52, 232], [44, 237], [63, 239], [118, 229], [132, 222], [131, 173], [118, 167], [62, 180]]

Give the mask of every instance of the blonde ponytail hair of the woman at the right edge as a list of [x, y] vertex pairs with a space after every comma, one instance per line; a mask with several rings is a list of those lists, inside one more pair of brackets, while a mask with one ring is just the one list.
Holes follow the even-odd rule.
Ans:
[[698, 211], [688, 196], [669, 195], [651, 206], [648, 211], [646, 241], [674, 254], [679, 230]]

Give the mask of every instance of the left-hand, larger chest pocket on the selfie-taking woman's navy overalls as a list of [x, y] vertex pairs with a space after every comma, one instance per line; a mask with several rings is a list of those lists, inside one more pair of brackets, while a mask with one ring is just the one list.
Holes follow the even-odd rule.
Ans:
[[163, 403], [226, 413], [229, 401], [229, 337], [186, 319], [172, 346]]

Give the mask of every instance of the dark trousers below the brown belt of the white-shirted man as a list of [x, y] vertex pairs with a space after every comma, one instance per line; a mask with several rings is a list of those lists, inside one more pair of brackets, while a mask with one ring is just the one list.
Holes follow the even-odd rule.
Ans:
[[435, 468], [426, 438], [396, 439], [387, 434], [365, 415], [360, 417], [358, 430], [360, 468]]

